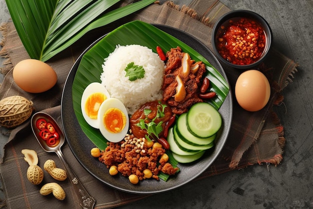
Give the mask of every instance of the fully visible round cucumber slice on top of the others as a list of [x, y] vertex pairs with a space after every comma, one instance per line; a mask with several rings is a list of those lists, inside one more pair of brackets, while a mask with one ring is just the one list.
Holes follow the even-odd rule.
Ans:
[[206, 102], [196, 103], [187, 112], [188, 130], [199, 138], [214, 135], [221, 127], [219, 112]]

